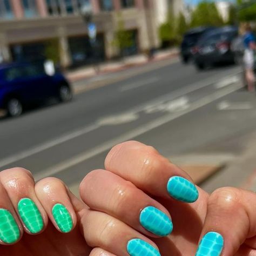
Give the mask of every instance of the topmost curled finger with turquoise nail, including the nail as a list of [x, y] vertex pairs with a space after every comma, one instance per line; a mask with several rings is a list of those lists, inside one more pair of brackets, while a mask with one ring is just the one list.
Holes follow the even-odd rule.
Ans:
[[198, 199], [198, 190], [188, 174], [142, 143], [125, 142], [113, 147], [105, 168], [154, 196], [171, 196], [186, 203]]

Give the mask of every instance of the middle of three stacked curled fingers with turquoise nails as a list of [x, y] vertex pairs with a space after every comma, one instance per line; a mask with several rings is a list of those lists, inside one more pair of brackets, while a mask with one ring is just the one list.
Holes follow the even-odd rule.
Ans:
[[172, 232], [171, 217], [164, 206], [111, 172], [87, 174], [80, 184], [80, 197], [93, 210], [110, 214], [151, 237]]

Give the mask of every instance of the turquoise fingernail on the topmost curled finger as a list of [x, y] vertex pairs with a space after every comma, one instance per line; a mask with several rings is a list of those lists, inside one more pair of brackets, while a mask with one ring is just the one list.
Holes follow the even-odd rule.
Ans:
[[196, 186], [183, 177], [171, 177], [167, 183], [167, 191], [171, 197], [185, 203], [193, 203], [198, 199]]

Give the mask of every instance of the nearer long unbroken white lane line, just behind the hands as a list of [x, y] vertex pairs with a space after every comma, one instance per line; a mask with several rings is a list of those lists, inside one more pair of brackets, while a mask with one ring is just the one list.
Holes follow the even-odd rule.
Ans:
[[166, 123], [171, 122], [172, 120], [183, 116], [184, 114], [190, 113], [194, 110], [199, 109], [200, 107], [203, 107], [207, 104], [210, 104], [214, 102], [215, 100], [222, 98], [226, 95], [229, 95], [230, 93], [237, 91], [240, 89], [242, 86], [241, 85], [234, 85], [232, 87], [227, 87], [225, 89], [222, 89], [220, 91], [212, 93], [212, 95], [205, 96], [204, 98], [199, 99], [197, 102], [194, 102], [191, 104], [190, 108], [187, 110], [184, 110], [182, 112], [177, 112], [177, 113], [172, 113], [172, 114], [167, 114], [163, 117], [160, 117], [158, 119], [155, 119], [147, 124], [144, 124], [137, 129], [134, 129], [130, 132], [124, 133], [121, 136], [114, 138], [112, 140], [109, 140], [99, 146], [94, 147], [93, 149], [89, 151], [85, 151], [81, 154], [78, 154], [75, 157], [72, 157], [66, 161], [63, 161], [62, 163], [59, 163], [57, 165], [54, 165], [50, 167], [49, 169], [42, 170], [40, 173], [38, 173], [35, 177], [36, 180], [42, 179], [47, 176], [53, 176], [56, 173], [59, 173], [63, 170], [66, 170], [74, 165], [77, 165], [79, 163], [82, 163], [83, 161], [90, 159], [92, 157], [97, 156], [100, 153], [103, 153], [107, 150], [109, 150], [113, 145], [116, 145], [118, 143], [124, 142], [126, 140], [135, 138], [137, 136], [140, 136], [146, 132], [149, 132], [161, 125], [164, 125]]

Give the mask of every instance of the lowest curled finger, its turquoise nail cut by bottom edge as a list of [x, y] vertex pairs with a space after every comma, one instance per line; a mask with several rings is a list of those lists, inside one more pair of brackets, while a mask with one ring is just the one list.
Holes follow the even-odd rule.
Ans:
[[87, 244], [115, 255], [159, 256], [157, 246], [122, 221], [103, 212], [87, 210], [81, 222]]

